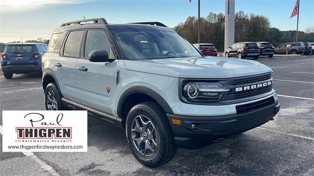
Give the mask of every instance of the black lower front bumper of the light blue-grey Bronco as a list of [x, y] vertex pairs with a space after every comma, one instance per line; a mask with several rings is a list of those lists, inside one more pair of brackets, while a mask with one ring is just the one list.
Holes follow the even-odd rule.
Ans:
[[278, 101], [247, 113], [223, 116], [186, 116], [167, 113], [172, 119], [181, 120], [171, 127], [178, 146], [198, 149], [223, 139], [256, 128], [271, 120], [280, 110]]

